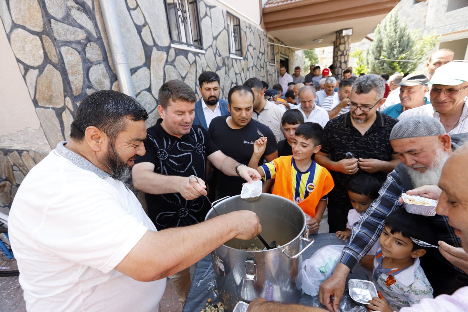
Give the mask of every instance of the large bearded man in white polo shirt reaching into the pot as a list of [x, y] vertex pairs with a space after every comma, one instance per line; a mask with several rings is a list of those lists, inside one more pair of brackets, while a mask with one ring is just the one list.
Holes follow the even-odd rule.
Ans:
[[[81, 102], [70, 141], [23, 180], [8, 231], [28, 311], [157, 311], [165, 277], [261, 231], [248, 211], [156, 231], [124, 183], [145, 154], [147, 118], [132, 97], [95, 92]], [[204, 191], [187, 180], [187, 192]]]

